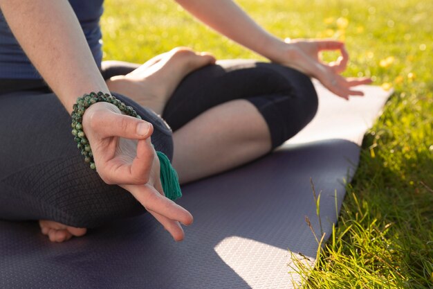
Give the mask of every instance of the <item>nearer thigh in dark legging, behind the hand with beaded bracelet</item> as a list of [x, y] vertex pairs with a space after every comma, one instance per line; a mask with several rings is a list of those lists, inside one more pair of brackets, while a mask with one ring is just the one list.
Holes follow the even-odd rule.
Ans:
[[[155, 114], [134, 108], [154, 123], [156, 149], [170, 155], [167, 126]], [[71, 134], [71, 116], [54, 94], [3, 94], [0, 115], [0, 218], [95, 227], [144, 211], [131, 194], [105, 184], [84, 163]]]

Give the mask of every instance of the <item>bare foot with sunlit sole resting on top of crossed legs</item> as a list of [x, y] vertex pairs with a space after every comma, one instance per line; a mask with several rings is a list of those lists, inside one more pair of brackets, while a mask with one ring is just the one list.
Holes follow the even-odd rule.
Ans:
[[214, 64], [209, 53], [196, 53], [187, 47], [178, 47], [157, 55], [126, 76], [107, 80], [111, 91], [125, 94], [140, 105], [162, 114], [174, 89], [188, 73]]

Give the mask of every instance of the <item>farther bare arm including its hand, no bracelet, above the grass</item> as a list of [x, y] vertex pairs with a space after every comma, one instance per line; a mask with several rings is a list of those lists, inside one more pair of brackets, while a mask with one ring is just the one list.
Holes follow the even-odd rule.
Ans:
[[[232, 0], [176, 0], [192, 15], [219, 33], [246, 46], [269, 60], [292, 67], [337, 94], [349, 99], [351, 95], [363, 95], [352, 87], [371, 82], [369, 78], [343, 78], [340, 73], [347, 67], [349, 55], [344, 44], [335, 40], [295, 40], [284, 42], [266, 32]], [[320, 51], [338, 50], [341, 57], [331, 63], [320, 60]]]

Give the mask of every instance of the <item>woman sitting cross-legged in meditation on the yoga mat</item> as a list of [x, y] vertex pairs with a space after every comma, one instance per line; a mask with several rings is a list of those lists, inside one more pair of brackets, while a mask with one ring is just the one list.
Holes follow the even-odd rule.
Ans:
[[[102, 66], [102, 0], [0, 0], [0, 113], [8, 123], [0, 130], [0, 218], [39, 220], [43, 234], [62, 242], [145, 208], [182, 240], [180, 223], [190, 225], [192, 216], [164, 197], [156, 150], [172, 158], [181, 183], [219, 173], [265, 155], [312, 119], [316, 95], [302, 73], [346, 99], [362, 95], [352, 87], [370, 81], [339, 75], [348, 61], [341, 42], [282, 42], [230, 0], [178, 3], [281, 65], [210, 65], [207, 53], [175, 49], [141, 67]], [[325, 64], [323, 50], [342, 56]], [[82, 129], [98, 173], [84, 164], [68, 116], [91, 91], [113, 91], [143, 119], [106, 102], [85, 111]]]

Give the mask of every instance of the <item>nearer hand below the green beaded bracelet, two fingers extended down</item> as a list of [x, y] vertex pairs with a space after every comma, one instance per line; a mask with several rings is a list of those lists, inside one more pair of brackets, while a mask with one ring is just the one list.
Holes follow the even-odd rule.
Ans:
[[111, 103], [95, 103], [83, 116], [83, 129], [91, 144], [98, 174], [107, 184], [129, 191], [172, 234], [183, 240], [183, 225], [192, 224], [190, 212], [165, 198], [160, 164], [151, 146], [153, 127], [120, 114]]

